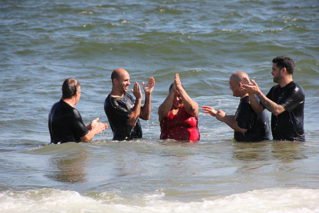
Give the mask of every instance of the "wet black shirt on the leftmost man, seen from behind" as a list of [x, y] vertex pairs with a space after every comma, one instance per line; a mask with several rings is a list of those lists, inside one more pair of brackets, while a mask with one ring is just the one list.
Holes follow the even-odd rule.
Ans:
[[88, 131], [77, 109], [62, 99], [52, 105], [49, 112], [51, 143], [80, 142]]

